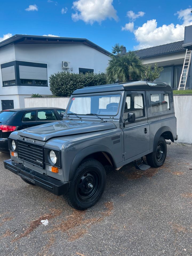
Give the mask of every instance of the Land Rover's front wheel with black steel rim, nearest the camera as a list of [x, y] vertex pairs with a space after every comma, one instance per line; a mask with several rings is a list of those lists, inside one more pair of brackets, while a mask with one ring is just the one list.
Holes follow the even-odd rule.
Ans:
[[[91, 182], [93, 188], [88, 187]], [[106, 172], [103, 165], [95, 159], [86, 159], [77, 168], [69, 190], [63, 196], [73, 208], [85, 210], [99, 201], [105, 183]]]

